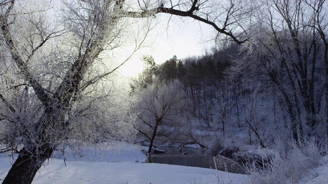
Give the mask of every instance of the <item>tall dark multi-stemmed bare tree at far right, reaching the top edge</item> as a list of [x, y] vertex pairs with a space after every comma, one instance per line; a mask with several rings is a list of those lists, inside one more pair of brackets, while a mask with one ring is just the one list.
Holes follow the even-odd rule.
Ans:
[[[290, 117], [295, 141], [319, 133], [323, 122], [324, 48], [314, 28], [315, 2], [264, 1], [254, 15], [252, 38], [238, 67], [244, 76], [274, 84]], [[249, 62], [249, 61], [253, 62]], [[320, 133], [321, 134], [321, 133]]]

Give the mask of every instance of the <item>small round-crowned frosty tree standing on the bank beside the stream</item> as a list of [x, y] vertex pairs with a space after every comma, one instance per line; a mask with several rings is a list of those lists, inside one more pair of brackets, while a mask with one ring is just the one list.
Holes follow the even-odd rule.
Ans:
[[188, 109], [187, 95], [178, 80], [154, 82], [139, 91], [139, 102], [134, 110], [139, 112], [138, 131], [149, 141], [151, 153], [156, 136], [173, 139], [183, 126], [183, 114]]

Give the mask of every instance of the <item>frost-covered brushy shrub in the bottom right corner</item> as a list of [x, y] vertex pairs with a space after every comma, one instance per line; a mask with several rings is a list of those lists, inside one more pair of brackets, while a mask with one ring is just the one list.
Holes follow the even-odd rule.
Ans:
[[[321, 144], [317, 139], [304, 140], [285, 146], [281, 140], [276, 140], [273, 151], [270, 152], [270, 162], [247, 164], [249, 177], [245, 183], [297, 183], [310, 169], [319, 164]], [[269, 152], [268, 152], [269, 153]], [[261, 157], [268, 155], [260, 154]]]

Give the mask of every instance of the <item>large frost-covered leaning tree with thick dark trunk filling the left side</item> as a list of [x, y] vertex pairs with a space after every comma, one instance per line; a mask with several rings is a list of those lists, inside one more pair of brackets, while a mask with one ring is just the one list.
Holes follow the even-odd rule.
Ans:
[[129, 37], [138, 21], [123, 20], [120, 1], [51, 3], [0, 3], [2, 142], [19, 149], [3, 183], [31, 183], [54, 150], [74, 140], [133, 137], [130, 102], [110, 82], [122, 63], [106, 58], [121, 41], [137, 50], [149, 27]]

